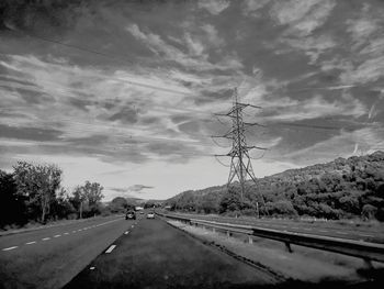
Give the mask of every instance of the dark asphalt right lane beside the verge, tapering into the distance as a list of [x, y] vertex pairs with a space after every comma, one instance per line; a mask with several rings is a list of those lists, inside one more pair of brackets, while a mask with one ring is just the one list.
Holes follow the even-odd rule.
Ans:
[[72, 288], [253, 288], [271, 275], [244, 264], [170, 226], [142, 220], [92, 260]]

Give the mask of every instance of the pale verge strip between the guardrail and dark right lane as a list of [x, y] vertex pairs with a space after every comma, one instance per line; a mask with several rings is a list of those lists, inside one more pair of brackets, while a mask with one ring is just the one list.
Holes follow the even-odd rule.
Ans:
[[374, 270], [365, 267], [362, 259], [342, 254], [325, 252], [291, 245], [293, 253], [286, 251], [282, 242], [252, 237], [253, 243], [248, 243], [248, 236], [231, 234], [227, 237], [224, 232], [190, 226], [177, 221], [169, 221], [178, 226], [199, 236], [203, 242], [223, 246], [229, 252], [244, 258], [259, 263], [272, 271], [284, 276], [287, 280], [321, 284], [325, 281], [340, 281], [353, 285], [372, 280], [372, 276], [384, 273], [384, 264], [372, 263]]

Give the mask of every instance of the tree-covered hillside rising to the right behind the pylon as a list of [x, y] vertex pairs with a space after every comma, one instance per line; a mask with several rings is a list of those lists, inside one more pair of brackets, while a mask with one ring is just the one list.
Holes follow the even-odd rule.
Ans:
[[184, 191], [165, 201], [174, 210], [203, 213], [363, 218], [384, 221], [384, 152], [337, 158], [248, 181], [244, 200], [235, 182]]

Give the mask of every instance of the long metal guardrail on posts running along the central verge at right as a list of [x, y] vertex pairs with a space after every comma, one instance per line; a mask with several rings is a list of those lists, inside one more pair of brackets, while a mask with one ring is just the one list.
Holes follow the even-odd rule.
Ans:
[[364, 259], [370, 265], [371, 260], [384, 263], [384, 245], [375, 244], [370, 242], [362, 241], [353, 241], [338, 237], [329, 237], [329, 236], [320, 236], [320, 235], [312, 235], [304, 233], [294, 233], [286, 231], [279, 231], [272, 229], [264, 229], [258, 226], [250, 225], [239, 225], [239, 224], [230, 224], [230, 223], [219, 223], [214, 221], [205, 221], [199, 219], [191, 219], [184, 216], [176, 216], [169, 214], [157, 214], [190, 223], [191, 225], [202, 225], [207, 227], [213, 227], [214, 230], [222, 230], [227, 233], [229, 236], [230, 233], [239, 233], [246, 234], [249, 236], [249, 242], [251, 243], [251, 236], [264, 237], [270, 240], [275, 240], [283, 242], [286, 248], [292, 252], [291, 244], [312, 247], [323, 251], [335, 252], [343, 255], [349, 255], [353, 257], [359, 257]]

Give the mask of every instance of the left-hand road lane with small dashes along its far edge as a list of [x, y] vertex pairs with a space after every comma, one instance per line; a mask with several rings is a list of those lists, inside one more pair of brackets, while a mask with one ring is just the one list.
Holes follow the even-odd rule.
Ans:
[[0, 288], [60, 288], [134, 221], [91, 219], [0, 237]]

